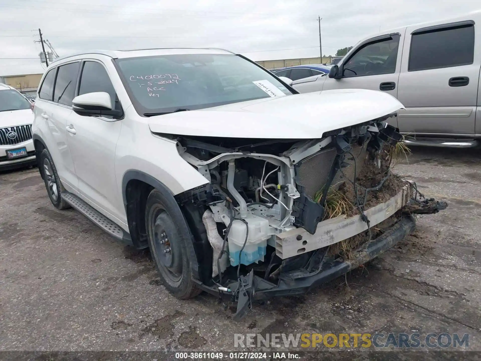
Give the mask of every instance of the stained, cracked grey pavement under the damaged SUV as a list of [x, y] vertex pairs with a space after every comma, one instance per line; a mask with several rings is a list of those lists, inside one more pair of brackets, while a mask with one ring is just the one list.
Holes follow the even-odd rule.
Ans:
[[239, 323], [215, 297], [172, 297], [147, 251], [54, 209], [37, 168], [0, 173], [0, 350], [233, 350], [235, 333], [416, 331], [468, 333], [480, 351], [480, 152], [414, 148], [394, 170], [449, 207], [365, 267], [256, 303]]

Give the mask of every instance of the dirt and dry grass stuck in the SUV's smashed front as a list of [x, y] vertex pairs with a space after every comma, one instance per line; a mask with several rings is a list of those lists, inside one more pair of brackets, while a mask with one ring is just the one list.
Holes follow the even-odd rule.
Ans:
[[[358, 174], [355, 175], [355, 181], [354, 179], [349, 180], [343, 177], [340, 183], [329, 189], [325, 202], [324, 220], [341, 215], [348, 217], [358, 215], [361, 213], [361, 209], [367, 210], [377, 206], [399, 193], [408, 183], [398, 175], [393, 174], [391, 169], [397, 164], [400, 158], [407, 157], [409, 154], [410, 151], [405, 143], [399, 142], [392, 146], [385, 145], [374, 158], [369, 154], [366, 154], [365, 159], [358, 158]], [[349, 157], [350, 155], [347, 156]], [[361, 167], [359, 160], [363, 162]], [[366, 195], [367, 189], [378, 187], [381, 182], [382, 185], [378, 190], [368, 191]], [[319, 191], [316, 194], [317, 202], [321, 201], [322, 193], [323, 191]], [[402, 210], [399, 210], [390, 218], [372, 226], [370, 234], [368, 231], [362, 232], [331, 245], [328, 255], [334, 257], [340, 256], [345, 259], [354, 258], [354, 250], [359, 249], [363, 245], [367, 245], [370, 240], [380, 236], [401, 217]]]

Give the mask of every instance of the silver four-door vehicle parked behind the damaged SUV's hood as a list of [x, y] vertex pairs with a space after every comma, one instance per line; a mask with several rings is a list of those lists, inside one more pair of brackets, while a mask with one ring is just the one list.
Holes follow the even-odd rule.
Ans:
[[300, 92], [385, 91], [405, 106], [391, 125], [407, 140], [474, 146], [481, 140], [480, 26], [481, 12], [474, 12], [385, 31], [358, 42], [329, 76], [292, 86]]

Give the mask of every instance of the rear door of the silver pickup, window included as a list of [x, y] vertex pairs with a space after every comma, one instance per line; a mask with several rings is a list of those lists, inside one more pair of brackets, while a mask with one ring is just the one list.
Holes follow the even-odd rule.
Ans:
[[[469, 18], [406, 31], [398, 99], [406, 110], [399, 130], [418, 134], [474, 134], [481, 48]], [[476, 34], [475, 34], [476, 33]]]

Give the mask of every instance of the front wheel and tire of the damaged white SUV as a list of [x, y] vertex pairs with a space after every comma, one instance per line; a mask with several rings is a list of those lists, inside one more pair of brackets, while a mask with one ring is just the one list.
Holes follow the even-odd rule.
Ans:
[[202, 290], [193, 280], [192, 262], [196, 260], [191, 259], [188, 251], [187, 242], [192, 240], [185, 236], [190, 235], [190, 231], [179, 229], [185, 221], [176, 221], [174, 212], [169, 212], [166, 204], [163, 194], [156, 189], [147, 198], [145, 228], [149, 248], [165, 288], [177, 298], [192, 298]]

